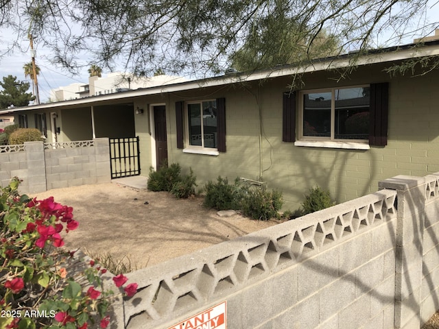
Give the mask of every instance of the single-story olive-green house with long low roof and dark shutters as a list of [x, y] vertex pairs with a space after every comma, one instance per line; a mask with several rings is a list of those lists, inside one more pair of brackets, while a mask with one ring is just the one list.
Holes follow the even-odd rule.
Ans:
[[167, 160], [199, 187], [218, 175], [265, 182], [290, 210], [316, 185], [344, 202], [394, 175], [439, 171], [438, 71], [385, 71], [439, 60], [439, 40], [370, 51], [354, 67], [353, 56], [12, 112], [51, 143], [139, 136], [141, 175]]

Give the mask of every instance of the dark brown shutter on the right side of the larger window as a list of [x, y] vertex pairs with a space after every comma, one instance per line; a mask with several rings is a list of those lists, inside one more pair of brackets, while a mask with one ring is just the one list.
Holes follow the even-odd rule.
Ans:
[[370, 84], [369, 145], [387, 145], [389, 84]]

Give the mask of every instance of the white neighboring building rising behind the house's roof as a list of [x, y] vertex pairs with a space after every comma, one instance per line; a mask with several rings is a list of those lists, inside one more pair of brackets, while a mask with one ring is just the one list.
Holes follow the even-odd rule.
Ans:
[[106, 77], [88, 77], [88, 84], [70, 84], [52, 89], [51, 101], [69, 101], [90, 96], [119, 93], [126, 90], [162, 86], [186, 81], [184, 77], [157, 75], [154, 77], [134, 77], [121, 72], [108, 73]]

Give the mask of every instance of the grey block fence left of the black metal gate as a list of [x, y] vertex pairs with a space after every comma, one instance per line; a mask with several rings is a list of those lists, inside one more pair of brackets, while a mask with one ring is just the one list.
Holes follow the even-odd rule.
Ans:
[[21, 193], [110, 182], [108, 138], [68, 143], [27, 142], [0, 147], [0, 182], [23, 182]]

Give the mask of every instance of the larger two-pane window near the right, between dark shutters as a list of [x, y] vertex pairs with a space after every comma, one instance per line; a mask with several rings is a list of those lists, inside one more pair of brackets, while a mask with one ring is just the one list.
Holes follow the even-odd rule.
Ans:
[[300, 139], [368, 140], [369, 86], [312, 90], [300, 97]]

